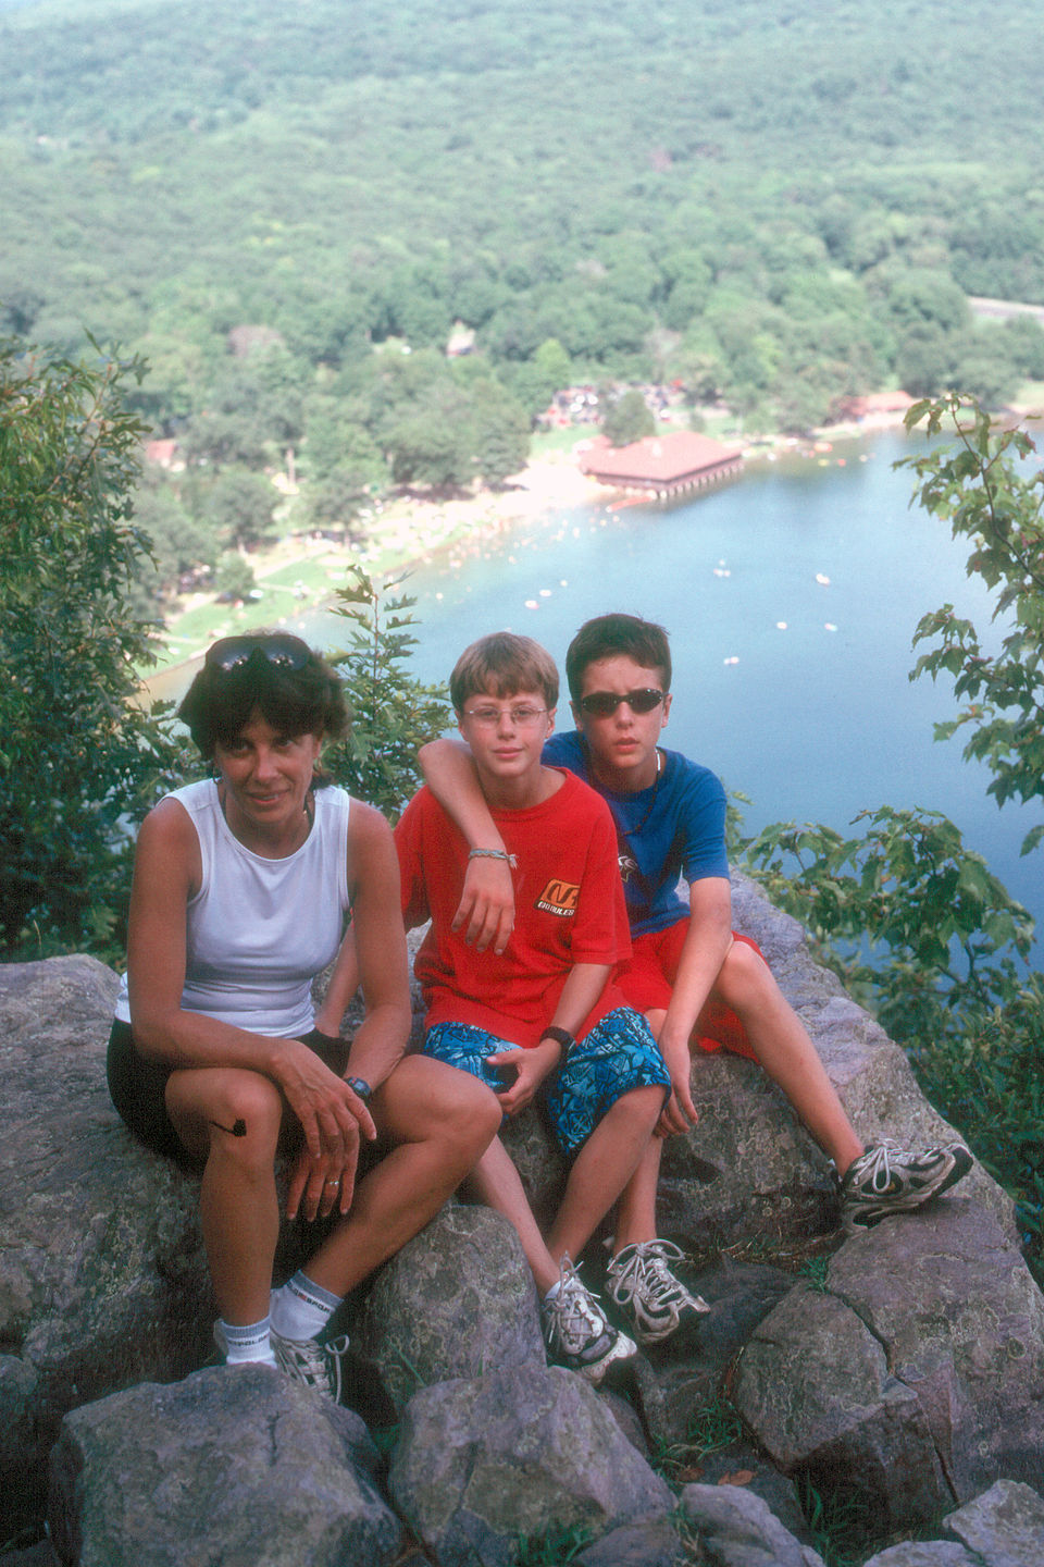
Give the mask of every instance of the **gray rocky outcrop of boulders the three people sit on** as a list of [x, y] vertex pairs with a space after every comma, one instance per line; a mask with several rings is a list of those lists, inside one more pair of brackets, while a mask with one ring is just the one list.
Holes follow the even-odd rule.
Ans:
[[[861, 1135], [947, 1136], [903, 1053], [809, 961], [800, 928], [748, 884], [736, 907]], [[734, 1058], [697, 1062], [701, 1120], [665, 1158], [662, 1227], [697, 1257], [712, 1310], [695, 1341], [639, 1357], [626, 1399], [548, 1371], [513, 1232], [452, 1205], [347, 1313], [347, 1398], [371, 1428], [398, 1423], [387, 1473], [351, 1412], [319, 1410], [265, 1370], [200, 1371], [213, 1304], [197, 1183], [135, 1145], [110, 1106], [114, 990], [91, 959], [0, 967], [0, 1539], [42, 1515], [52, 1449], [66, 1562], [193, 1559], [142, 1545], [160, 1471], [164, 1522], [147, 1550], [185, 1531], [197, 1559], [216, 1559], [221, 1534], [229, 1562], [288, 1559], [277, 1522], [252, 1542], [222, 1531], [233, 1514], [274, 1517], [290, 1493], [310, 1506], [293, 1559], [316, 1564], [405, 1562], [410, 1537], [416, 1564], [507, 1562], [521, 1536], [559, 1529], [587, 1540], [587, 1567], [673, 1567], [695, 1537], [704, 1561], [809, 1567], [792, 1484], [809, 1479], [858, 1492], [881, 1534], [945, 1517], [938, 1539], [892, 1545], [913, 1554], [884, 1551], [875, 1567], [1002, 1567], [1041, 1533], [1044, 1302], [1008, 1199], [977, 1167], [933, 1208], [842, 1243], [826, 1161]], [[546, 1211], [562, 1166], [538, 1117], [520, 1117], [509, 1141]], [[304, 1244], [286, 1227], [280, 1266]], [[820, 1254], [805, 1276], [801, 1250]], [[592, 1283], [599, 1257], [593, 1246], [584, 1263]], [[723, 1390], [742, 1428], [693, 1459]], [[230, 1503], [218, 1526], [200, 1498], [218, 1506], [219, 1476], [239, 1511]]]

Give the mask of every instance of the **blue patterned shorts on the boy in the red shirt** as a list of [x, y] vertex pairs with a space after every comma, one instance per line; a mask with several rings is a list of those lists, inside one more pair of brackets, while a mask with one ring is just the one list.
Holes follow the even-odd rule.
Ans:
[[[424, 1039], [423, 1055], [470, 1072], [501, 1094], [510, 1086], [512, 1072], [488, 1066], [487, 1056], [515, 1048], [510, 1040], [473, 1023], [435, 1023]], [[642, 1014], [620, 1006], [573, 1045], [565, 1061], [545, 1078], [538, 1098], [559, 1147], [571, 1158], [617, 1100], [635, 1087], [662, 1087], [667, 1103], [670, 1073]]]

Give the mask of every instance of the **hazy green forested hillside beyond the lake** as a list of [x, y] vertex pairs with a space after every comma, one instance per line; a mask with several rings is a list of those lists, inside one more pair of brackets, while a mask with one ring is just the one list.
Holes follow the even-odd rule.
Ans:
[[748, 429], [895, 384], [997, 403], [1044, 378], [1036, 321], [966, 301], [1044, 302], [1035, 34], [1014, 0], [5, 6], [6, 329], [141, 351], [197, 464], [160, 511], [224, 505], [225, 542], [288, 443], [343, 517], [512, 472], [570, 379]]

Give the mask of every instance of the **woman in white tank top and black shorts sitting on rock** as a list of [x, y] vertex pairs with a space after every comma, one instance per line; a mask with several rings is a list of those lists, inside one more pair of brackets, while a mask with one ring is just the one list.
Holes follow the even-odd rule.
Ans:
[[[296, 636], [224, 638], [180, 716], [213, 776], [141, 827], [110, 1091], [149, 1147], [202, 1166], [225, 1362], [279, 1365], [337, 1398], [346, 1341], [324, 1343], [333, 1308], [438, 1211], [499, 1106], [477, 1080], [466, 1091], [452, 1067], [404, 1058], [391, 832], [319, 771], [324, 740], [347, 729], [333, 671]], [[337, 1034], [354, 964], [351, 979], [335, 968], [318, 1015], [311, 1004], [349, 910], [365, 998], [351, 1042]], [[360, 1136], [373, 1147], [357, 1182]], [[286, 1218], [340, 1221], [271, 1290], [279, 1152], [296, 1155]]]

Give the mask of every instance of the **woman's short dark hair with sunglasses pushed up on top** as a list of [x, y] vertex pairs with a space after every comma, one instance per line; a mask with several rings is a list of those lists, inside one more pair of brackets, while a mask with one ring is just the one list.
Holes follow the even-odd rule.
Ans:
[[286, 632], [250, 632], [214, 642], [178, 718], [213, 762], [214, 747], [233, 744], [255, 710], [280, 735], [343, 740], [351, 722], [337, 672]]

